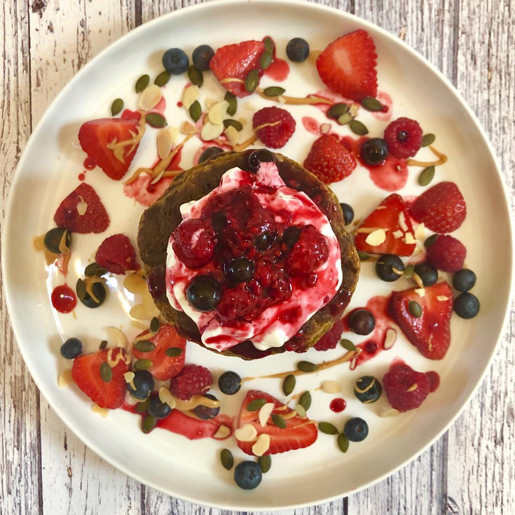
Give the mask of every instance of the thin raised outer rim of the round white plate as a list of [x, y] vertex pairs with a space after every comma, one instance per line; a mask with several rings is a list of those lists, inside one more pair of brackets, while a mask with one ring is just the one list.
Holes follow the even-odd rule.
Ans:
[[[390, 43], [393, 43], [394, 45], [398, 45], [398, 47], [402, 48], [404, 51], [407, 50], [407, 52], [409, 54], [411, 54], [412, 57], [414, 57], [418, 61], [421, 61], [422, 64], [425, 65], [426, 68], [429, 68], [429, 70], [432, 73], [434, 73], [440, 79], [440, 81], [447, 87], [449, 92], [452, 94], [454, 100], [457, 101], [462, 108], [465, 108], [465, 110], [467, 111], [467, 113], [471, 117], [472, 121], [474, 122], [476, 128], [479, 131], [479, 134], [482, 136], [482, 139], [483, 139], [483, 141], [486, 144], [486, 147], [487, 147], [488, 153], [489, 153], [489, 157], [490, 157], [490, 159], [492, 160], [492, 162], [495, 165], [495, 171], [496, 171], [496, 174], [497, 174], [497, 178], [499, 179], [499, 182], [500, 182], [501, 187], [502, 187], [503, 200], [504, 200], [504, 202], [506, 204], [507, 211], [509, 213], [512, 212], [511, 206], [510, 206], [510, 202], [509, 202], [508, 187], [507, 187], [507, 184], [506, 184], [506, 180], [505, 180], [505, 178], [504, 178], [504, 176], [502, 174], [500, 162], [497, 159], [496, 152], [495, 152], [495, 150], [494, 150], [494, 148], [493, 148], [493, 146], [492, 146], [492, 144], [490, 142], [489, 136], [488, 136], [487, 132], [485, 131], [484, 127], [482, 126], [482, 124], [479, 122], [479, 119], [477, 118], [475, 113], [472, 111], [470, 106], [467, 104], [466, 100], [461, 96], [461, 94], [454, 87], [454, 85], [451, 83], [451, 81], [447, 77], [445, 77], [445, 75], [443, 75], [443, 73], [440, 72], [440, 70], [438, 70], [438, 68], [436, 66], [434, 66], [430, 61], [428, 61], [420, 53], [418, 53], [417, 50], [415, 50], [414, 48], [409, 46], [406, 42], [404, 42], [404, 41], [398, 39], [397, 37], [395, 37], [394, 35], [392, 35], [386, 29], [383, 29], [379, 25], [376, 25], [376, 24], [374, 24], [372, 22], [364, 20], [363, 18], [360, 18], [359, 16], [357, 16], [355, 14], [351, 14], [349, 12], [337, 9], [335, 7], [326, 6], [326, 5], [322, 5], [322, 4], [315, 4], [315, 3], [312, 3], [312, 2], [306, 2], [305, 0], [217, 0], [216, 3], [215, 2], [205, 2], [205, 3], [202, 3], [202, 4], [196, 4], [196, 5], [192, 5], [192, 6], [183, 7], [181, 9], [177, 9], [177, 10], [171, 11], [169, 13], [163, 14], [161, 16], [158, 16], [158, 18], [149, 20], [148, 22], [145, 22], [144, 24], [140, 25], [139, 27], [136, 27], [136, 28], [130, 30], [129, 32], [127, 32], [126, 34], [124, 34], [123, 36], [118, 38], [116, 41], [113, 41], [108, 46], [106, 46], [106, 48], [102, 49], [88, 63], [86, 63], [64, 85], [64, 87], [59, 91], [59, 93], [54, 97], [52, 102], [50, 102], [50, 104], [45, 109], [45, 112], [41, 116], [37, 126], [32, 130], [32, 132], [31, 132], [31, 134], [30, 134], [30, 136], [29, 136], [29, 138], [27, 140], [27, 143], [25, 145], [25, 148], [24, 148], [24, 150], [22, 152], [20, 160], [19, 160], [18, 164], [16, 165], [16, 169], [15, 169], [15, 171], [13, 173], [12, 183], [11, 183], [11, 187], [9, 189], [8, 198], [7, 198], [7, 207], [6, 207], [6, 214], [5, 214], [5, 219], [4, 219], [5, 229], [4, 229], [3, 234], [2, 234], [2, 242], [1, 242], [1, 249], [2, 249], [2, 273], [3, 273], [3, 277], [4, 277], [3, 288], [4, 288], [5, 296], [6, 296], [6, 306], [7, 306], [7, 311], [9, 312], [9, 320], [11, 322], [11, 328], [12, 328], [13, 334], [14, 334], [15, 339], [16, 339], [16, 345], [18, 346], [18, 348], [20, 350], [20, 353], [21, 353], [21, 355], [23, 357], [24, 363], [25, 363], [28, 371], [30, 372], [30, 376], [31, 376], [32, 380], [35, 382], [36, 386], [38, 387], [39, 391], [43, 394], [44, 398], [46, 399], [46, 401], [48, 402], [50, 407], [52, 407], [52, 409], [59, 416], [60, 420], [64, 423], [64, 425], [68, 428], [68, 430], [72, 431], [72, 433], [74, 433], [80, 439], [80, 441], [82, 443], [84, 443], [90, 450], [92, 450], [99, 457], [101, 457], [102, 459], [107, 461], [115, 469], [123, 472], [124, 474], [126, 474], [127, 476], [137, 480], [138, 482], [140, 482], [140, 483], [142, 483], [142, 484], [144, 484], [146, 486], [149, 486], [150, 488], [154, 488], [154, 489], [156, 489], [156, 490], [158, 490], [158, 491], [160, 491], [160, 492], [162, 492], [162, 493], [164, 493], [166, 495], [177, 497], [178, 499], [181, 499], [181, 500], [186, 501], [186, 502], [190, 502], [190, 503], [194, 503], [194, 504], [200, 504], [202, 506], [207, 506], [207, 507], [217, 508], [217, 509], [228, 509], [228, 507], [224, 506], [222, 504], [209, 503], [209, 502], [199, 503], [199, 501], [194, 499], [193, 497], [190, 497], [190, 496], [187, 496], [187, 495], [182, 495], [181, 493], [178, 493], [178, 492], [171, 492], [171, 490], [164, 491], [161, 487], [157, 486], [152, 481], [148, 481], [147, 479], [144, 479], [141, 476], [139, 476], [133, 470], [131, 470], [131, 469], [127, 468], [127, 467], [124, 467], [121, 464], [118, 464], [114, 458], [111, 458], [111, 456], [109, 456], [109, 455], [105, 454], [104, 452], [102, 452], [101, 450], [99, 450], [97, 445], [96, 445], [96, 443], [93, 442], [93, 441], [90, 441], [90, 439], [82, 433], [82, 430], [81, 430], [81, 428], [79, 426], [76, 426], [73, 423], [71, 424], [70, 421], [68, 421], [68, 419], [67, 419], [66, 413], [65, 412], [61, 413], [61, 410], [56, 407], [54, 401], [52, 400], [51, 394], [48, 391], [46, 391], [45, 388], [41, 388], [40, 381], [38, 379], [38, 374], [37, 373], [35, 374], [33, 372], [33, 370], [31, 369], [31, 367], [27, 364], [27, 358], [26, 358], [27, 352], [26, 352], [26, 349], [24, 349], [24, 346], [20, 345], [20, 343], [19, 343], [21, 341], [21, 338], [19, 338], [20, 332], [18, 330], [18, 325], [16, 324], [16, 322], [14, 322], [14, 320], [13, 320], [13, 318], [11, 316], [11, 312], [12, 312], [11, 308], [14, 306], [14, 301], [11, 299], [11, 294], [10, 294], [11, 287], [10, 287], [9, 284], [10, 284], [11, 281], [9, 279], [9, 274], [7, 273], [7, 268], [6, 268], [6, 257], [5, 257], [6, 256], [6, 252], [5, 252], [5, 248], [6, 248], [6, 245], [7, 245], [7, 241], [9, 241], [9, 239], [11, 239], [10, 234], [11, 234], [11, 232], [13, 230], [12, 229], [12, 224], [10, 224], [11, 211], [13, 210], [13, 203], [14, 203], [12, 192], [15, 190], [16, 186], [18, 186], [18, 183], [20, 181], [19, 169], [21, 169], [23, 167], [24, 162], [25, 162], [25, 160], [27, 159], [27, 156], [30, 153], [31, 146], [32, 146], [33, 142], [37, 139], [37, 136], [38, 136], [38, 134], [40, 132], [40, 128], [44, 125], [44, 123], [46, 122], [46, 119], [50, 116], [50, 111], [52, 110], [52, 106], [55, 104], [55, 102], [57, 101], [58, 97], [60, 97], [61, 95], [66, 94], [67, 90], [71, 89], [72, 85], [74, 85], [76, 82], [78, 82], [82, 78], [82, 75], [85, 73], [84, 70], [89, 70], [89, 68], [94, 66], [97, 61], [100, 61], [104, 57], [105, 54], [107, 54], [108, 52], [111, 52], [111, 50], [114, 47], [116, 47], [118, 45], [123, 45], [123, 44], [125, 44], [125, 42], [128, 39], [136, 37], [140, 32], [143, 32], [145, 30], [149, 30], [153, 24], [156, 24], [158, 22], [163, 22], [164, 19], [166, 19], [166, 20], [173, 20], [174, 17], [179, 12], [184, 12], [185, 10], [188, 11], [188, 12], [193, 12], [193, 11], [204, 9], [206, 6], [210, 6], [210, 8], [215, 8], [216, 9], [216, 7], [213, 7], [214, 5], [216, 5], [216, 6], [218, 6], [218, 5], [220, 5], [220, 6], [227, 6], [227, 5], [237, 6], [237, 5], [242, 4], [242, 3], [250, 3], [250, 4], [260, 4], [260, 3], [261, 4], [271, 4], [271, 3], [273, 3], [275, 5], [283, 4], [284, 8], [286, 8], [286, 9], [295, 8], [295, 6], [298, 6], [298, 7], [302, 7], [302, 8], [306, 8], [307, 7], [307, 9], [313, 9], [313, 10], [318, 10], [318, 11], [329, 12], [329, 13], [332, 13], [334, 15], [338, 15], [340, 18], [347, 19], [347, 20], [351, 21], [352, 23], [354, 23], [354, 24], [356, 24], [358, 26], [365, 27], [367, 29], [372, 29], [373, 31], [379, 32], [379, 33], [381, 33], [381, 35], [384, 38], [389, 40]], [[510, 238], [511, 238], [511, 240], [510, 240], [511, 245], [509, 246], [509, 251], [510, 251], [509, 263], [510, 263], [510, 267], [509, 267], [509, 278], [508, 279], [510, 281], [510, 284], [512, 284], [513, 268], [514, 268], [514, 265], [515, 265], [515, 262], [514, 262], [515, 231], [514, 231], [514, 225], [513, 225], [513, 221], [512, 221], [512, 217], [511, 216], [508, 217], [507, 224], [508, 224], [509, 234], [510, 234]], [[508, 294], [508, 299], [507, 299], [507, 303], [506, 303], [506, 307], [505, 307], [505, 313], [504, 313], [504, 317], [503, 317], [503, 322], [500, 325], [499, 332], [496, 335], [495, 346], [492, 348], [492, 352], [491, 352], [490, 356], [488, 357], [488, 359], [487, 359], [487, 361], [485, 363], [484, 369], [480, 373], [480, 377], [479, 377], [478, 381], [476, 382], [476, 384], [472, 388], [469, 396], [462, 402], [461, 406], [456, 411], [455, 415], [451, 418], [449, 423], [445, 424], [444, 427], [441, 429], [441, 431], [433, 439], [431, 439], [426, 445], [424, 445], [421, 449], [419, 449], [418, 452], [416, 452], [415, 454], [413, 454], [412, 456], [407, 458], [405, 461], [403, 461], [397, 467], [391, 469], [389, 472], [383, 474], [380, 477], [375, 478], [371, 482], [369, 482], [369, 483], [367, 483], [365, 485], [362, 485], [362, 486], [360, 486], [360, 487], [358, 487], [356, 489], [353, 489], [353, 490], [348, 491], [348, 492], [342, 492], [342, 493], [339, 493], [337, 495], [333, 495], [333, 496], [330, 496], [330, 497], [325, 497], [323, 499], [314, 500], [313, 502], [307, 502], [307, 503], [301, 503], [301, 504], [287, 504], [287, 505], [281, 505], [279, 507], [272, 507], [271, 509], [273, 509], [273, 510], [285, 510], [285, 509], [304, 508], [304, 507], [308, 507], [308, 506], [313, 506], [315, 504], [322, 504], [322, 503], [332, 502], [332, 501], [341, 499], [344, 496], [348, 496], [348, 495], [357, 493], [359, 491], [365, 490], [366, 488], [369, 488], [369, 487], [371, 487], [371, 486], [381, 482], [385, 478], [390, 477], [392, 474], [396, 473], [397, 471], [399, 471], [400, 469], [402, 469], [403, 467], [408, 465], [411, 461], [414, 461], [418, 456], [420, 456], [423, 452], [425, 452], [428, 448], [430, 448], [437, 440], [439, 440], [441, 438], [442, 434], [445, 433], [446, 431], [448, 431], [450, 426], [452, 424], [454, 424], [456, 419], [463, 413], [465, 408], [470, 403], [471, 399], [475, 396], [475, 394], [477, 393], [479, 387], [483, 384], [483, 381], [485, 379], [485, 375], [486, 375], [487, 371], [491, 367], [491, 364], [492, 364], [492, 361], [493, 361], [493, 357], [499, 351], [500, 344], [501, 344], [501, 339], [502, 339], [502, 336], [503, 336], [503, 334], [505, 332], [507, 321], [508, 321], [508, 318], [509, 318], [510, 306], [511, 306], [511, 304], [513, 302], [514, 293], [515, 293], [515, 288], [513, 288], [513, 285], [512, 285], [511, 288], [510, 288], [509, 294]], [[231, 506], [229, 509], [231, 509], [231, 510], [243, 510], [243, 511], [246, 511], [249, 508], [247, 506], [245, 506], [245, 505], [241, 505], [241, 506], [234, 505], [234, 506]], [[261, 511], [266, 511], [266, 510], [269, 510], [269, 509], [270, 509], [269, 506], [263, 506], [263, 507], [259, 507], [259, 508], [255, 508], [254, 507], [254, 508], [252, 508], [252, 511], [261, 512]]]

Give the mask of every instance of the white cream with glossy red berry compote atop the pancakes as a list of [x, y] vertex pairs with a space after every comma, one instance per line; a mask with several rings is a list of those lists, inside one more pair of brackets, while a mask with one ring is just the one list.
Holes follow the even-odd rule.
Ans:
[[182, 205], [168, 244], [169, 302], [220, 351], [246, 340], [281, 347], [341, 283], [327, 217], [284, 184], [273, 160], [259, 161], [256, 174], [233, 168], [211, 193]]

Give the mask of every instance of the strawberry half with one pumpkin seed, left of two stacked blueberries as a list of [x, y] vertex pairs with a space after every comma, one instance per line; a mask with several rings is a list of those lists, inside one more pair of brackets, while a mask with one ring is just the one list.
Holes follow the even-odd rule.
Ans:
[[[451, 342], [452, 289], [446, 282], [441, 282], [426, 286], [422, 297], [415, 290], [394, 291], [388, 313], [423, 356], [442, 359]], [[410, 301], [422, 308], [419, 318], [410, 312]]]

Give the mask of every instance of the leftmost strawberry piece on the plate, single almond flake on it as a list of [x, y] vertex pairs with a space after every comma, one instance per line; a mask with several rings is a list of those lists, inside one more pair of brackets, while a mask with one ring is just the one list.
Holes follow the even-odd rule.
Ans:
[[109, 216], [104, 204], [93, 187], [85, 182], [79, 184], [61, 202], [54, 221], [58, 227], [66, 227], [71, 232], [81, 234], [104, 232], [109, 227]]

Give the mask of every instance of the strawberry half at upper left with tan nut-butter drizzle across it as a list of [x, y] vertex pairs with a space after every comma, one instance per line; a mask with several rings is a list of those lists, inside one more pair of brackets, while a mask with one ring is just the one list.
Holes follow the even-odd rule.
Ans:
[[108, 177], [118, 181], [127, 173], [139, 143], [134, 148], [130, 144], [124, 148], [123, 162], [107, 146], [133, 138], [138, 134], [137, 126], [138, 120], [124, 118], [100, 118], [86, 122], [79, 129], [80, 146]]

